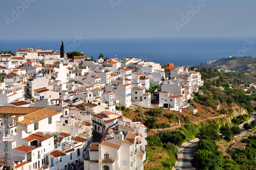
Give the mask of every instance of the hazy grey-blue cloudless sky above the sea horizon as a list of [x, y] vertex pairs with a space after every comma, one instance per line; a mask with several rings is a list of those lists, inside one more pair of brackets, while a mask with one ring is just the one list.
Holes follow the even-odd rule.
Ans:
[[0, 2], [1, 39], [256, 37], [256, 1]]

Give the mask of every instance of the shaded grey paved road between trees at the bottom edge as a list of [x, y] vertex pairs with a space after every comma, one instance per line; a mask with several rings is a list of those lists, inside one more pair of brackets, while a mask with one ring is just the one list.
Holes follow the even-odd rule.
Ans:
[[197, 147], [199, 139], [193, 139], [183, 143], [179, 147], [178, 160], [174, 166], [175, 169], [196, 169], [191, 166], [190, 160], [193, 159], [195, 149]]

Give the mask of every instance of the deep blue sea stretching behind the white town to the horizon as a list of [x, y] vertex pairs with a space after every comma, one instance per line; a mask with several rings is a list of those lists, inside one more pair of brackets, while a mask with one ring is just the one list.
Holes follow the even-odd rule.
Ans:
[[[256, 38], [148, 38], [148, 39], [50, 39], [0, 40], [0, 51], [16, 53], [16, 49], [36, 48], [60, 51], [61, 41], [65, 53], [84, 52], [88, 57], [141, 58], [160, 64], [197, 65], [207, 60], [229, 56], [256, 57]], [[252, 43], [248, 43], [252, 41]]]

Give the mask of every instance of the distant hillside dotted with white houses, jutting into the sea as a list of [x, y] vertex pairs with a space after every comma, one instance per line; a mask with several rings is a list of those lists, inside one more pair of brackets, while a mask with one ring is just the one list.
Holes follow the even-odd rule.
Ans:
[[256, 58], [245, 57], [229, 57], [220, 60], [210, 60], [197, 65], [199, 68], [222, 68], [229, 70], [250, 70], [256, 72]]

